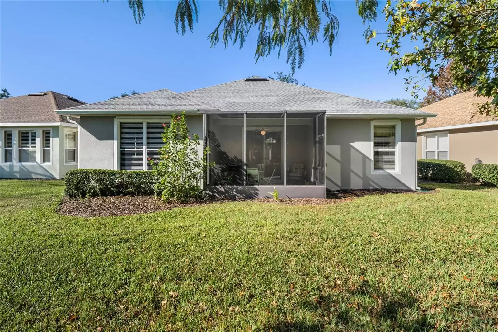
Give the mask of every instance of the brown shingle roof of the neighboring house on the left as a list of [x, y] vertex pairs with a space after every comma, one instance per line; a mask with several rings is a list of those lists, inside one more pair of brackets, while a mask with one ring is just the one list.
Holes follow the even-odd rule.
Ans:
[[54, 110], [84, 105], [85, 103], [53, 91], [0, 99], [1, 123], [68, 122]]

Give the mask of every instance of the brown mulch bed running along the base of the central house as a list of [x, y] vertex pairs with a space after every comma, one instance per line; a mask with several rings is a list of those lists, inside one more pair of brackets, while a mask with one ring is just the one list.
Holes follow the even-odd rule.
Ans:
[[[416, 193], [411, 190], [359, 189], [328, 191], [327, 198], [270, 198], [248, 199], [260, 203], [285, 205], [328, 205], [354, 200], [366, 195], [385, 195], [388, 193]], [[157, 196], [103, 196], [84, 199], [63, 197], [57, 212], [80, 217], [107, 217], [166, 211], [177, 207], [199, 206], [211, 203], [237, 201], [237, 199], [205, 199], [187, 203], [163, 203]], [[238, 199], [241, 201], [241, 199]]]

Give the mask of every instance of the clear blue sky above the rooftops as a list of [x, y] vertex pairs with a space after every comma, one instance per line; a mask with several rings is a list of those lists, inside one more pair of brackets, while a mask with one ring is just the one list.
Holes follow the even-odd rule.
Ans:
[[[382, 7], [384, 3], [380, 3]], [[146, 1], [135, 24], [126, 1], [0, 1], [0, 85], [14, 95], [46, 90], [97, 102], [136, 90], [198, 89], [252, 75], [288, 72], [276, 52], [254, 63], [255, 37], [211, 48], [217, 1], [199, 1], [194, 32], [175, 32], [176, 1]], [[384, 100], [407, 98], [404, 73], [388, 75], [387, 54], [365, 43], [354, 1], [333, 1], [340, 21], [332, 56], [321, 41], [306, 48], [295, 77], [306, 85]], [[379, 16], [375, 27], [385, 29]]]

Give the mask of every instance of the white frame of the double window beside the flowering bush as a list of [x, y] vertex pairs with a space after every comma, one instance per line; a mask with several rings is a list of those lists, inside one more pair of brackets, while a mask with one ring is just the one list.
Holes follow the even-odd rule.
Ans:
[[[143, 147], [142, 149], [121, 149], [121, 123], [131, 122], [131, 123], [142, 123], [143, 124]], [[147, 170], [147, 151], [157, 151], [159, 149], [147, 149], [147, 123], [170, 123], [170, 117], [116, 117], [114, 118], [114, 169], [121, 169], [121, 151], [140, 151], [142, 150], [142, 170]]]

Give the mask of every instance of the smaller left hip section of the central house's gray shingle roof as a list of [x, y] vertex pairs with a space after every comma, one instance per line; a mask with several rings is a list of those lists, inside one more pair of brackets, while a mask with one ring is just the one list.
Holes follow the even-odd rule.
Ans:
[[168, 89], [105, 100], [70, 110], [206, 110], [208, 106]]

